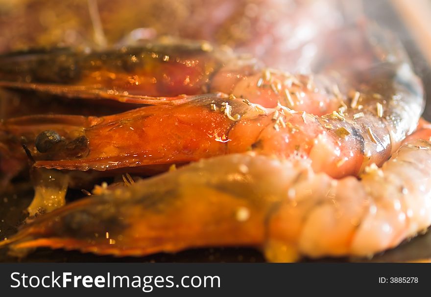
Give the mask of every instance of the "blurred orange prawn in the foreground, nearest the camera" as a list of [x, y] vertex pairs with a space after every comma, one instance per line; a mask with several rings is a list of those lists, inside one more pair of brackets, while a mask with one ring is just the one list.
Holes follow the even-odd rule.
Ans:
[[367, 166], [360, 181], [316, 174], [304, 159], [221, 156], [73, 202], [0, 245], [117, 256], [254, 246], [271, 261], [369, 256], [430, 226], [430, 166], [425, 140], [403, 145], [381, 169]]

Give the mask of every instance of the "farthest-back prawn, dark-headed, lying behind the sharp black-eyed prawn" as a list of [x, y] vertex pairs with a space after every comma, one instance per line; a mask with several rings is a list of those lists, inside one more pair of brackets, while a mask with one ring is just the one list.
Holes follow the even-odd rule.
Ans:
[[5, 54], [0, 57], [0, 87], [134, 104], [179, 104], [184, 101], [178, 95], [219, 91], [264, 107], [286, 102], [318, 115], [340, 104], [323, 82], [309, 75], [266, 69], [255, 59], [207, 42], [171, 39], [105, 51], [57, 48]]

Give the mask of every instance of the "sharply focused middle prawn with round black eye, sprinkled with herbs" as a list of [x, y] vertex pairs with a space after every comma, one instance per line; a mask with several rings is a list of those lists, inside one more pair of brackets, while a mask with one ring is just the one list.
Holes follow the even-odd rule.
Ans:
[[[105, 117], [29, 116], [7, 120], [3, 128], [12, 138], [24, 137], [35, 166], [46, 168], [104, 171], [254, 150], [307, 156], [316, 172], [332, 177], [358, 175], [367, 163], [382, 165], [414, 131], [423, 90], [404, 61], [354, 77], [348, 105], [320, 117], [219, 93]], [[49, 131], [55, 139], [44, 147], [37, 138]]]

